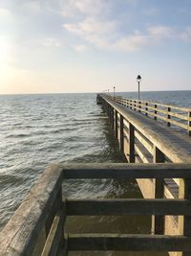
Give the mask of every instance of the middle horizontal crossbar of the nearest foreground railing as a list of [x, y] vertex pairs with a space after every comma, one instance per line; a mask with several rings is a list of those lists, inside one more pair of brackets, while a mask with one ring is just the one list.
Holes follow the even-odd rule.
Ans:
[[191, 212], [186, 199], [67, 199], [69, 216], [95, 215], [187, 215]]

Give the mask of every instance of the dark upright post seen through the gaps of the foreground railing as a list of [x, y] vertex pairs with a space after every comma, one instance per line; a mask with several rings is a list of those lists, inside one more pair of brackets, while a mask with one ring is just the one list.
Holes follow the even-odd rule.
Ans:
[[[153, 152], [153, 163], [162, 163], [164, 162], [164, 154], [159, 151], [155, 146]], [[163, 198], [164, 194], [164, 185], [162, 178], [156, 178], [154, 181], [154, 197]], [[152, 229], [154, 234], [163, 234], [164, 233], [164, 216], [152, 216]]]

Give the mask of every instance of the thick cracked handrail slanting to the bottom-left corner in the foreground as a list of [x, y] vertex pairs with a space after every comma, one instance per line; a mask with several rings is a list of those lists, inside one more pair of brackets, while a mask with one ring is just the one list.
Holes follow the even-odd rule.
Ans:
[[60, 190], [62, 168], [49, 167], [0, 233], [0, 255], [32, 255], [38, 233], [45, 225]]

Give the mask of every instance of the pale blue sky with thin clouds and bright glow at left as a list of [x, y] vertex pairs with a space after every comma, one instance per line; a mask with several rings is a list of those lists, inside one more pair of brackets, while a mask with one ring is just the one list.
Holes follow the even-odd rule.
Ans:
[[0, 0], [0, 94], [191, 90], [190, 0]]

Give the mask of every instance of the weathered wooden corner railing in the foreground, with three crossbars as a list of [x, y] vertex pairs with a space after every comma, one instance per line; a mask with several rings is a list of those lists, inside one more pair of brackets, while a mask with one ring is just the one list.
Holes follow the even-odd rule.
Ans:
[[[63, 179], [183, 178], [184, 198], [67, 199]], [[81, 250], [149, 250], [191, 253], [191, 164], [77, 164], [53, 166], [36, 182], [29, 196], [0, 233], [0, 255], [68, 255]], [[156, 182], [155, 190], [159, 183]], [[62, 197], [61, 197], [62, 196]], [[64, 234], [67, 216], [182, 215], [183, 234]]]

